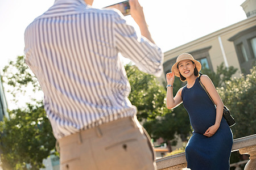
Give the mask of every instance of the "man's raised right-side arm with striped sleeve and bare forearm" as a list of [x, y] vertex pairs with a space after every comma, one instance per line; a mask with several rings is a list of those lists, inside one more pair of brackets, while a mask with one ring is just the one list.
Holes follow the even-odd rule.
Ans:
[[131, 59], [139, 70], [160, 76], [163, 73], [163, 53], [155, 45], [148, 31], [143, 9], [138, 0], [130, 0], [131, 15], [141, 29], [141, 39], [138, 39], [134, 28], [126, 23], [120, 15], [114, 16], [114, 36], [118, 51], [123, 57]]

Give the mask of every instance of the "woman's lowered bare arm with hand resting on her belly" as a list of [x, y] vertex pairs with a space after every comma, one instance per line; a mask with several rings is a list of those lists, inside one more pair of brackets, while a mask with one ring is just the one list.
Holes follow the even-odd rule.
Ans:
[[210, 137], [213, 134], [215, 134], [216, 131], [218, 130], [218, 128], [220, 127], [220, 122], [221, 122], [221, 118], [222, 118], [222, 114], [223, 114], [224, 105], [223, 105], [220, 95], [218, 95], [218, 92], [212, 83], [212, 80], [210, 80], [210, 78], [207, 75], [201, 75], [201, 82], [204, 84], [210, 97], [212, 97], [212, 100], [214, 101], [214, 103], [216, 105], [215, 124], [213, 126], [211, 126], [207, 131], [205, 131], [205, 134], [204, 134], [204, 135], [207, 135], [208, 137]]

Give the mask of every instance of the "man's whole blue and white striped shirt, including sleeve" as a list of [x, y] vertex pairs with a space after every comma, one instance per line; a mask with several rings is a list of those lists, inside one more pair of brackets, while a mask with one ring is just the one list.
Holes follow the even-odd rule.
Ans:
[[56, 139], [131, 117], [130, 84], [118, 53], [142, 71], [160, 76], [162, 52], [115, 10], [83, 0], [57, 0], [24, 33], [26, 63], [44, 92], [44, 109]]

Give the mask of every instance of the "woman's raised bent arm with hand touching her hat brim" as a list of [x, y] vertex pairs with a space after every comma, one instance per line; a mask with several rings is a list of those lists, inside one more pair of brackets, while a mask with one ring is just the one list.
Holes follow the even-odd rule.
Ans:
[[180, 88], [180, 90], [177, 92], [176, 96], [174, 97], [174, 92], [173, 92], [174, 76], [175, 76], [174, 73], [166, 74], [167, 85], [171, 85], [171, 87], [167, 87], [167, 94], [166, 94], [166, 107], [168, 109], [173, 109], [182, 103], [181, 91], [183, 88]]

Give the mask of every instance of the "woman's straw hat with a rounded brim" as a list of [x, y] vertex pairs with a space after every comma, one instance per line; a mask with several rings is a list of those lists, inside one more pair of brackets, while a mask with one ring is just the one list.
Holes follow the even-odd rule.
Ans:
[[198, 72], [201, 70], [202, 66], [199, 61], [196, 61], [196, 59], [194, 59], [193, 56], [191, 56], [191, 54], [183, 53], [177, 57], [176, 63], [172, 66], [172, 73], [174, 73], [174, 75], [176, 75], [177, 77], [180, 77], [180, 73], [179, 73], [179, 69], [177, 69], [177, 65], [179, 64], [180, 61], [183, 61], [185, 59], [190, 59], [191, 61], [195, 62], [196, 69], [198, 70]]

